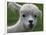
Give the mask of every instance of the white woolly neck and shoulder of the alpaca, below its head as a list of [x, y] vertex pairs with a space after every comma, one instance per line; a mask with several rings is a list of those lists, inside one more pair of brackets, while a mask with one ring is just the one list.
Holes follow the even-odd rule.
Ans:
[[20, 19], [18, 20], [18, 22], [15, 25], [8, 28], [8, 32], [21, 32], [24, 30], [25, 29], [23, 27], [23, 24], [20, 22]]

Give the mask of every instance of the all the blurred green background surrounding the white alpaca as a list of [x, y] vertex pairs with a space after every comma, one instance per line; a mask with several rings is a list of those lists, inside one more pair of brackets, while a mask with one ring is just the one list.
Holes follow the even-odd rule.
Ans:
[[[11, 26], [18, 21], [20, 15], [18, 10], [12, 7], [8, 7], [8, 3], [9, 2], [7, 2], [7, 26]], [[23, 5], [25, 3], [19, 3], [19, 4]], [[35, 5], [38, 6], [38, 8], [42, 11], [43, 15], [43, 4], [35, 4]], [[43, 16], [41, 18], [38, 17], [37, 19], [38, 22], [33, 31], [43, 31]]]

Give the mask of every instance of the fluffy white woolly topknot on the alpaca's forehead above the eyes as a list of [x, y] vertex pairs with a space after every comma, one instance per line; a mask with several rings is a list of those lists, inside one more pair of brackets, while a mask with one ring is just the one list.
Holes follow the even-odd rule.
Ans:
[[20, 9], [21, 14], [33, 14], [33, 15], [39, 15], [40, 14], [40, 10], [38, 9], [38, 7], [34, 4], [24, 4], [21, 9]]

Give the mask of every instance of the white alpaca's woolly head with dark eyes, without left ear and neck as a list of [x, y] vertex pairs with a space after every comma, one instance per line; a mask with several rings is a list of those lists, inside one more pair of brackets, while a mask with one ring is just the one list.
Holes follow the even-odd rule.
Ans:
[[33, 4], [25, 4], [20, 9], [21, 23], [26, 29], [33, 28], [37, 23], [40, 10]]

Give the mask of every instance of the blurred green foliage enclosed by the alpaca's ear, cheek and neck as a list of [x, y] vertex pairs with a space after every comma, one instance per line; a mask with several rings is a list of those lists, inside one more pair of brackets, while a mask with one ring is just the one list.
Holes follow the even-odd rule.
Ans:
[[7, 6], [7, 25], [14, 25], [19, 19], [19, 12], [14, 8]]

